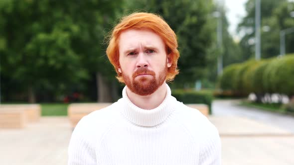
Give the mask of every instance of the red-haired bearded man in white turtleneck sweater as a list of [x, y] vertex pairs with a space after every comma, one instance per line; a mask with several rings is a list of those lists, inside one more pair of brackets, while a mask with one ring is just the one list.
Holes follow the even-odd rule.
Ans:
[[217, 129], [171, 96], [176, 35], [158, 15], [133, 13], [113, 29], [106, 51], [123, 98], [77, 124], [68, 165], [220, 165]]

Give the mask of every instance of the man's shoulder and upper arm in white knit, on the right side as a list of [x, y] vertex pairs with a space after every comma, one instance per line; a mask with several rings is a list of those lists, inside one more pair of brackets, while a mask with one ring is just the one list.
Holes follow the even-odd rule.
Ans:
[[221, 141], [217, 128], [200, 111], [179, 102], [176, 116], [200, 148], [200, 164], [220, 164]]

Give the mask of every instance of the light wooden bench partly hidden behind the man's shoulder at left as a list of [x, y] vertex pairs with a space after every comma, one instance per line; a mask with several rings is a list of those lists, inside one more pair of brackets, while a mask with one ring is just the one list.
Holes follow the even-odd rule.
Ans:
[[72, 103], [69, 104], [67, 108], [67, 115], [72, 127], [74, 128], [84, 116], [111, 104], [112, 103]]

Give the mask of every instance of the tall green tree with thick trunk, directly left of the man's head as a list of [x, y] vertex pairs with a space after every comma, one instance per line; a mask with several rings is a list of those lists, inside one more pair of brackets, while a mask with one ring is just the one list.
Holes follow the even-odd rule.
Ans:
[[[87, 1], [87, 0], [86, 0]], [[122, 14], [122, 0], [81, 1], [73, 12], [81, 35], [73, 40], [73, 49], [79, 52], [81, 62], [91, 79], [96, 80], [97, 101], [112, 102], [118, 97], [115, 71], [107, 59], [104, 38], [112, 24]], [[81, 7], [84, 8], [81, 10]]]

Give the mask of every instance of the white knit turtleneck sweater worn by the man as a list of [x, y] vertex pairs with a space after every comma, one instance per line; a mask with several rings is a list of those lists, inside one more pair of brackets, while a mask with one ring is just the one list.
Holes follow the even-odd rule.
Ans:
[[68, 165], [220, 165], [221, 142], [198, 110], [171, 96], [152, 110], [127, 96], [83, 117], [73, 131]]

